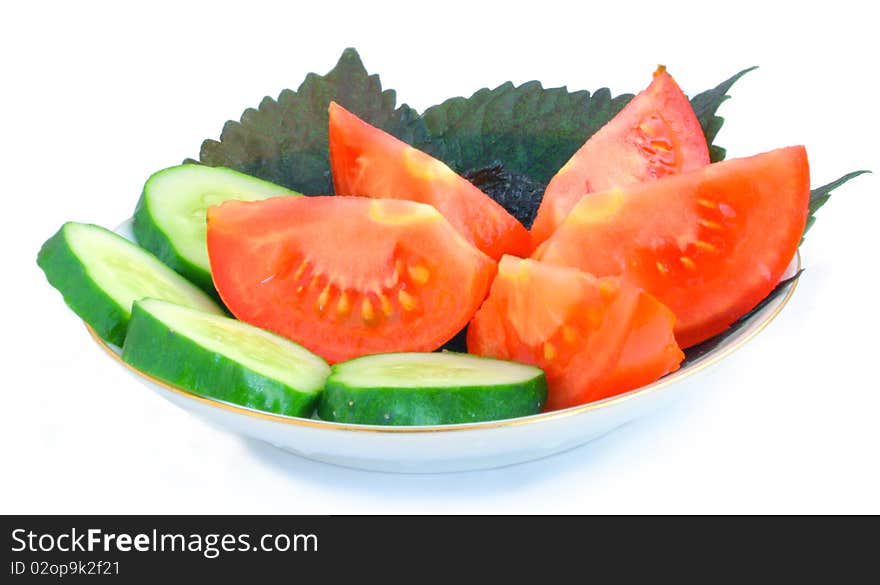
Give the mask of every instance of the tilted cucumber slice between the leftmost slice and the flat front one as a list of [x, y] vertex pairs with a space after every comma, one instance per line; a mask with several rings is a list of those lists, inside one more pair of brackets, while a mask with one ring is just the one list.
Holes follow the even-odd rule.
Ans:
[[135, 303], [122, 359], [201, 396], [304, 417], [330, 373], [327, 362], [283, 337], [155, 299]]

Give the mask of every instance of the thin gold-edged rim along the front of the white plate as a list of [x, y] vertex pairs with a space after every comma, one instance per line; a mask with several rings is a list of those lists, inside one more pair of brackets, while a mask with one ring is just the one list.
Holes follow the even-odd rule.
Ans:
[[[801, 254], [800, 251], [797, 252], [795, 256], [796, 259], [796, 267], [795, 273], [797, 274], [801, 270]], [[635, 390], [630, 390], [629, 392], [625, 392], [623, 394], [618, 394], [617, 396], [612, 396], [610, 398], [605, 398], [602, 400], [597, 400], [596, 402], [588, 402], [587, 404], [582, 404], [580, 406], [572, 406], [570, 408], [565, 408], [562, 410], [554, 410], [551, 412], [545, 412], [540, 414], [533, 414], [530, 416], [523, 416], [519, 418], [511, 418], [505, 420], [497, 420], [497, 421], [484, 421], [484, 422], [474, 422], [474, 423], [460, 423], [460, 424], [450, 424], [450, 425], [431, 425], [431, 426], [381, 426], [381, 425], [355, 425], [355, 424], [343, 424], [343, 423], [335, 423], [329, 421], [322, 421], [310, 418], [299, 418], [295, 416], [286, 416], [283, 414], [273, 414], [271, 412], [264, 412], [261, 410], [256, 410], [253, 408], [248, 408], [246, 406], [239, 406], [237, 404], [232, 404], [229, 402], [224, 402], [222, 400], [217, 400], [214, 398], [207, 398], [205, 396], [200, 396], [198, 394], [194, 394], [188, 390], [184, 390], [182, 388], [178, 388], [176, 386], [172, 386], [171, 384], [155, 378], [149, 374], [145, 374], [141, 372], [137, 368], [130, 366], [129, 364], [122, 361], [122, 358], [119, 356], [116, 351], [111, 348], [107, 342], [98, 337], [98, 334], [95, 333], [95, 330], [92, 329], [87, 323], [85, 324], [86, 329], [88, 329], [89, 334], [92, 336], [92, 339], [101, 346], [104, 351], [107, 352], [111, 358], [121, 364], [123, 367], [127, 368], [134, 374], [141, 376], [150, 382], [161, 386], [162, 388], [177, 394], [179, 396], [183, 396], [184, 398], [188, 398], [190, 400], [195, 400], [197, 402], [201, 402], [208, 406], [212, 406], [215, 408], [220, 408], [227, 412], [231, 412], [233, 414], [240, 414], [244, 416], [260, 418], [264, 420], [270, 420], [273, 422], [301, 426], [301, 427], [313, 427], [324, 429], [328, 431], [356, 431], [356, 432], [368, 432], [368, 433], [445, 433], [451, 431], [477, 431], [484, 429], [494, 429], [499, 427], [512, 427], [518, 425], [525, 424], [533, 424], [539, 423], [547, 420], [563, 418], [568, 416], [574, 416], [580, 414], [582, 412], [587, 412], [590, 410], [598, 410], [600, 408], [606, 408], [609, 406], [613, 406], [615, 404], [619, 404], [621, 402], [625, 402], [636, 396], [642, 396], [644, 394], [648, 394], [650, 392], [655, 392], [660, 390], [661, 388], [665, 388], [670, 384], [683, 380], [689, 376], [693, 376], [694, 374], [705, 370], [706, 368], [718, 363], [722, 359], [726, 358], [746, 343], [751, 341], [758, 333], [764, 330], [773, 319], [782, 311], [783, 307], [788, 304], [788, 301], [791, 299], [791, 296], [794, 294], [795, 289], [798, 285], [798, 280], [795, 279], [791, 285], [789, 286], [788, 291], [786, 291], [785, 296], [782, 297], [782, 301], [767, 315], [763, 321], [758, 323], [757, 327], [755, 327], [752, 331], [744, 334], [742, 337], [737, 339], [734, 343], [725, 347], [723, 350], [719, 351], [717, 354], [714, 354], [690, 368], [685, 368], [682, 370], [678, 370], [677, 372], [665, 376], [656, 382], [648, 384], [647, 386], [642, 386], [641, 388], [636, 388]]]

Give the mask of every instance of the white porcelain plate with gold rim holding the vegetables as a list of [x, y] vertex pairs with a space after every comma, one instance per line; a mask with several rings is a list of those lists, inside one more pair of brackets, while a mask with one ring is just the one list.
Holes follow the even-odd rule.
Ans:
[[[130, 220], [117, 232], [131, 239]], [[800, 256], [786, 277], [800, 267]], [[517, 419], [458, 425], [383, 427], [270, 414], [205, 398], [125, 364], [119, 348], [89, 329], [118, 364], [162, 397], [227, 431], [260, 439], [296, 455], [346, 467], [430, 473], [501, 467], [540, 459], [587, 443], [699, 388], [699, 374], [754, 337], [782, 310], [797, 281], [751, 315], [733, 334], [657, 382], [612, 398]]]

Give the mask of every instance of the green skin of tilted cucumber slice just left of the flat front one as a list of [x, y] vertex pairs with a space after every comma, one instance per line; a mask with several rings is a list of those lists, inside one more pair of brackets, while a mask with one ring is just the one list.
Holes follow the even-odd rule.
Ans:
[[310, 417], [321, 394], [300, 392], [203, 348], [140, 303], [132, 309], [122, 361], [199, 396], [288, 416]]

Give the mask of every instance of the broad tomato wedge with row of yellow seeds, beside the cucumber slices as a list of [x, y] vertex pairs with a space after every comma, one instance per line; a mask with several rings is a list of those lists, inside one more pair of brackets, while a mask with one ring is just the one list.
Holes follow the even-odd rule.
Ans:
[[437, 349], [496, 267], [429, 205], [339, 196], [211, 207], [208, 255], [236, 317], [330, 362]]

